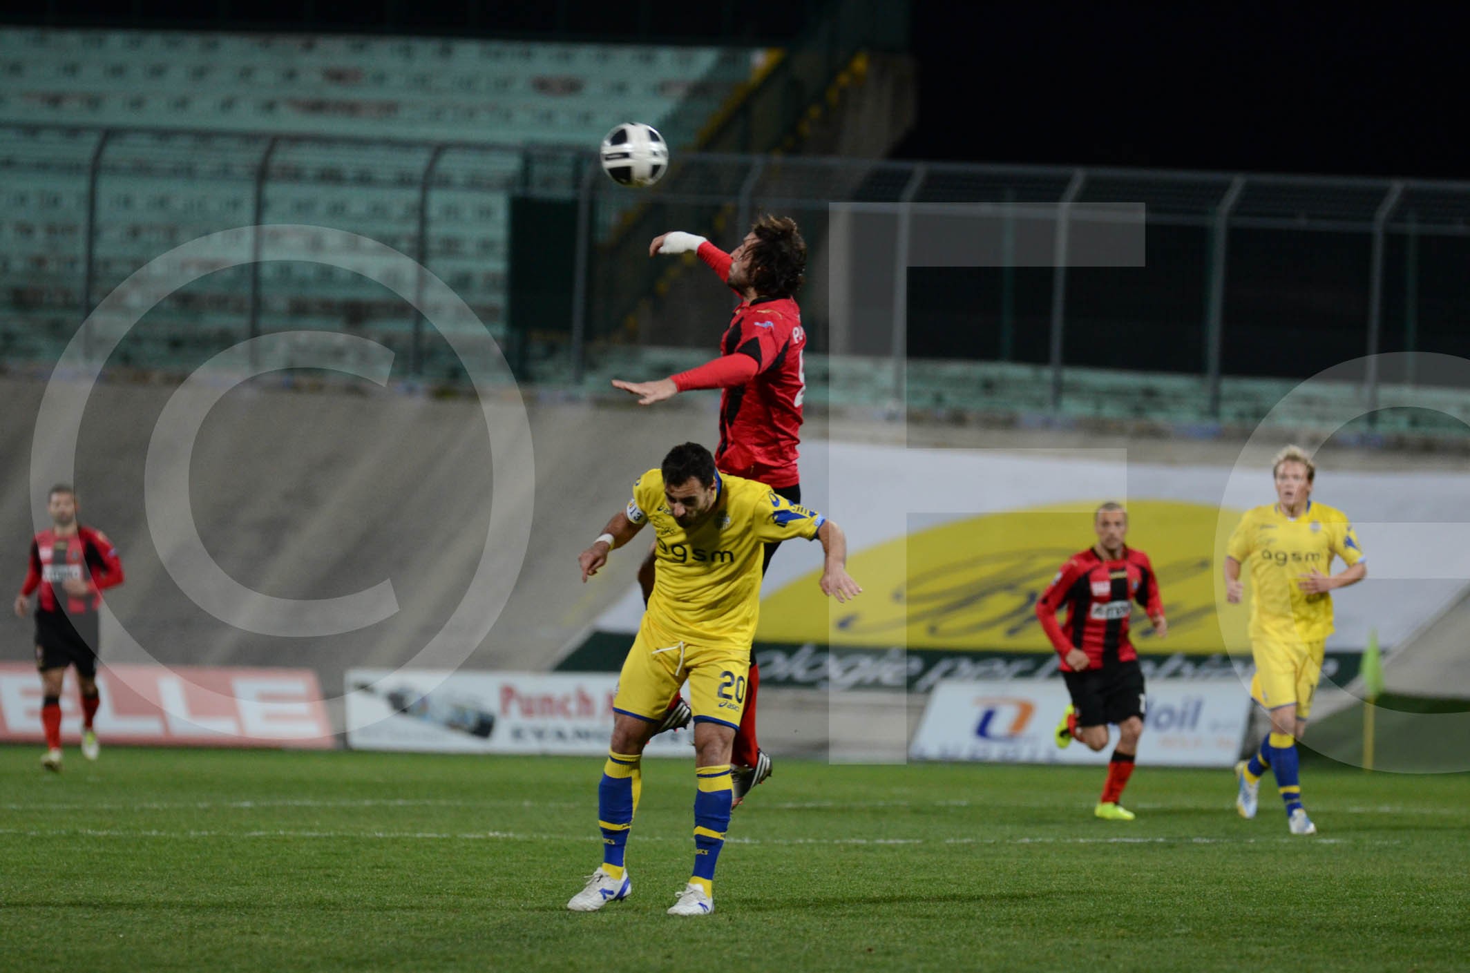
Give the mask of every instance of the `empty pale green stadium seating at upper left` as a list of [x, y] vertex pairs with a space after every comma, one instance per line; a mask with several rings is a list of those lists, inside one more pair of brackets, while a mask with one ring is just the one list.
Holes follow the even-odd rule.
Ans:
[[[453, 143], [434, 160], [425, 265], [503, 337], [522, 153], [587, 153], [614, 123], [659, 125], [681, 104], [679, 118], [707, 115], [750, 63], [713, 47], [0, 29], [0, 356], [54, 360], [82, 316], [94, 157], [93, 304], [157, 254], [254, 222], [270, 135], [284, 138], [263, 222], [351, 231], [410, 257], [425, 169]], [[676, 146], [692, 134], [666, 132]], [[406, 275], [385, 282], [412, 292]], [[116, 362], [187, 367], [225, 347], [247, 326], [248, 281], [237, 269], [191, 284], [148, 312]], [[268, 263], [260, 292], [263, 329], [348, 328], [404, 345], [413, 326], [390, 290], [320, 265]]]

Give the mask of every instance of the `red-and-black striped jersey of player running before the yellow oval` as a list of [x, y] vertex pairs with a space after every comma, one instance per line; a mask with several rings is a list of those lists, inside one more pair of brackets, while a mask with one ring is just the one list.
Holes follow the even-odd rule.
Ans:
[[[1150, 619], [1164, 614], [1148, 554], [1129, 547], [1117, 560], [1104, 560], [1091, 547], [1073, 554], [1036, 601], [1036, 617], [1063, 658], [1061, 670], [1072, 672], [1066, 657], [1073, 648], [1086, 653], [1094, 669], [1138, 658], [1127, 638], [1135, 601]], [[1063, 606], [1067, 619], [1058, 625]]]

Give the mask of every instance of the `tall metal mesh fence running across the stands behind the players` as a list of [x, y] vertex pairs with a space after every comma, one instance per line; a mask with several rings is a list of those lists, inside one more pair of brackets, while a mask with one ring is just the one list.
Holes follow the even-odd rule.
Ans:
[[[1379, 375], [1379, 353], [1470, 357], [1470, 184], [682, 153], [657, 187], [631, 191], [604, 179], [591, 153], [554, 146], [65, 128], [0, 131], [0, 353], [10, 359], [46, 347], [18, 328], [69, 337], [110, 287], [171, 245], [298, 222], [360, 232], [441, 276], [517, 348], [522, 381], [587, 385], [609, 370], [697, 360], [720, 335], [728, 291], [689, 260], [650, 260], [650, 228], [729, 248], [760, 210], [795, 216], [808, 241], [801, 303], [814, 372], [831, 366], [823, 356], [904, 359], [875, 398], [901, 400], [938, 382], [941, 365], [969, 363], [976, 375], [1025, 375], [1030, 392], [1042, 376], [1047, 395], [1033, 404], [1066, 412], [1073, 378], [1122, 369], [1188, 379], [1194, 412], [1220, 417], [1232, 376], [1289, 381], [1369, 356], [1363, 384], [1376, 395], [1382, 381], [1421, 378], [1413, 365]], [[528, 279], [510, 268], [517, 200], [567, 207], [564, 260], [542, 266], [570, 292], [566, 315], [507, 312]], [[1064, 215], [1119, 204], [1141, 207], [1141, 265], [1078, 266], [1075, 248], [1058, 245]], [[861, 292], [875, 287], [864, 279], [833, 297], [854, 219], [872, 223], [867, 240], [907, 253], [926, 232], [923, 215], [947, 209], [998, 234], [998, 256], [919, 262], [882, 294]], [[1038, 210], [1050, 222], [1028, 229]], [[1048, 259], [1028, 259], [1028, 247]], [[304, 316], [381, 337], [406, 353], [410, 373], [437, 375], [435, 337], [401, 300], [370, 282], [266, 266], [201, 282], [212, 297], [175, 309], [169, 347]]]

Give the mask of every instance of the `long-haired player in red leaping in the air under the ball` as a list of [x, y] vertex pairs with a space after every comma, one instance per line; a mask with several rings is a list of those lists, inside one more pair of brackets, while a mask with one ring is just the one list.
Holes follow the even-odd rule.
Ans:
[[[803, 353], [807, 344], [801, 328], [801, 309], [795, 294], [807, 266], [807, 244], [795, 220], [761, 216], [745, 234], [741, 245], [725, 253], [704, 237], [681, 231], [656, 237], [648, 254], [698, 253], [741, 303], [731, 316], [720, 341], [720, 357], [654, 382], [614, 381], [613, 385], [638, 395], [638, 404], [672, 398], [679, 392], [719, 388], [720, 444], [714, 463], [722, 473], [756, 479], [794, 504], [801, 503], [801, 475], [797, 472], [797, 445], [801, 441], [801, 400], [806, 394]], [[767, 544], [761, 570], [770, 564], [779, 544]], [[653, 591], [654, 557], [638, 570], [644, 601]], [[745, 711], [735, 736], [735, 804], [753, 786], [770, 776], [770, 757], [756, 742], [756, 694], [760, 669], [750, 664]], [[688, 723], [688, 705], [681, 698], [670, 704], [663, 729]]]

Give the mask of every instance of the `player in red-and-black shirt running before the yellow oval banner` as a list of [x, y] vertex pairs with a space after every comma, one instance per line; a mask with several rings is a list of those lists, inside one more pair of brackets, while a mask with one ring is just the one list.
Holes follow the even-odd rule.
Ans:
[[[1061, 656], [1072, 705], [1057, 726], [1057, 747], [1080, 739], [1089, 750], [1107, 747], [1108, 723], [1117, 723], [1119, 741], [1107, 767], [1107, 785], [1094, 814], [1130, 822], [1133, 813], [1119, 798], [1133, 773], [1138, 738], [1144, 733], [1145, 689], [1138, 653], [1127, 639], [1133, 603], [1144, 607], [1154, 633], [1164, 638], [1164, 603], [1148, 556], [1123, 542], [1127, 511], [1105, 503], [1092, 516], [1098, 542], [1067, 559], [1036, 603], [1036, 617]], [[1067, 620], [1057, 625], [1066, 606]]]

